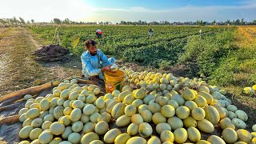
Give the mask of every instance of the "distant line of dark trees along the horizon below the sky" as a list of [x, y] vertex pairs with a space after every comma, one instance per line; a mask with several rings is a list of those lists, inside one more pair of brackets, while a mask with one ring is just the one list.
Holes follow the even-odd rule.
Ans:
[[59, 18], [54, 18], [50, 22], [35, 22], [34, 19], [30, 21], [25, 21], [24, 18], [0, 18], [0, 26], [25, 26], [25, 25], [37, 25], [37, 24], [67, 24], [67, 25], [198, 25], [198, 26], [256, 26], [256, 20], [252, 22], [246, 22], [244, 18], [237, 20], [227, 20], [226, 22], [217, 22], [214, 20], [213, 22], [206, 22], [202, 20], [197, 20], [196, 22], [168, 22], [168, 21], [153, 21], [146, 22], [139, 20], [138, 22], [129, 22], [129, 21], [121, 21], [121, 22], [74, 22], [69, 18], [65, 18], [61, 20]]

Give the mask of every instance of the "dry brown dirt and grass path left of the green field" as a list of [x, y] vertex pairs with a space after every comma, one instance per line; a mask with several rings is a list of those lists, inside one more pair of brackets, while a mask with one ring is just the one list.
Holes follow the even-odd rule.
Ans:
[[38, 86], [52, 80], [81, 75], [81, 62], [35, 62], [34, 50], [40, 44], [25, 28], [0, 28], [0, 97], [16, 90]]

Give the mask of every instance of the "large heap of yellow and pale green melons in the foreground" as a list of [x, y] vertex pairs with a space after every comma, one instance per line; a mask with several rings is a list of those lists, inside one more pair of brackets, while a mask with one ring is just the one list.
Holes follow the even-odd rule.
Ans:
[[[137, 90], [126, 85], [97, 97], [99, 88], [81, 87], [72, 79], [46, 97], [26, 95], [25, 108], [19, 111], [23, 122], [19, 136], [24, 140], [20, 143], [256, 142], [256, 132], [244, 130], [247, 114], [232, 105], [218, 86], [197, 78], [121, 70]], [[217, 125], [221, 136], [201, 139], [202, 132], [210, 134]]]

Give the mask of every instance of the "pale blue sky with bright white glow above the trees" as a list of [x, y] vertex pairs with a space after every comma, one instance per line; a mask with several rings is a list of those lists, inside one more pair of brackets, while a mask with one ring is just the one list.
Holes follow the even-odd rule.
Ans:
[[256, 0], [0, 0], [0, 3], [0, 18], [15, 16], [35, 22], [50, 22], [53, 18], [76, 22], [256, 19]]

